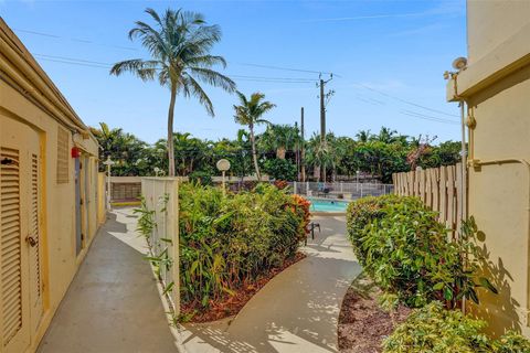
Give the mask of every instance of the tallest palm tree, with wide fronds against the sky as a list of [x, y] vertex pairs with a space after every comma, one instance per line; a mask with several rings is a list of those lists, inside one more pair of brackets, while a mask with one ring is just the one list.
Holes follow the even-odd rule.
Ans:
[[213, 105], [200, 83], [206, 83], [224, 90], [235, 90], [235, 83], [212, 69], [214, 65], [226, 67], [222, 56], [211, 55], [213, 45], [221, 40], [218, 25], [206, 25], [200, 13], [168, 9], [160, 15], [152, 9], [146, 12], [156, 26], [136, 22], [129, 39], [139, 38], [151, 58], [134, 58], [116, 63], [112, 75], [130, 72], [142, 81], [158, 79], [168, 87], [170, 95], [168, 111], [168, 158], [169, 175], [174, 175], [173, 113], [177, 95], [195, 97], [214, 116]]

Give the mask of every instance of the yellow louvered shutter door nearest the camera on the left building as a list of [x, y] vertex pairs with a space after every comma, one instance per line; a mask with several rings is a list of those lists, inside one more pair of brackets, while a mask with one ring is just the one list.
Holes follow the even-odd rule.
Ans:
[[33, 232], [32, 157], [39, 156], [39, 135], [2, 116], [0, 126], [0, 351], [19, 353], [31, 341], [28, 237]]

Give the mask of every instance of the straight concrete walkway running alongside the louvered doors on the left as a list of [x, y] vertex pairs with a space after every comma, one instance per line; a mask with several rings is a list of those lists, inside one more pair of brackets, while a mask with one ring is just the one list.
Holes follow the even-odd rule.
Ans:
[[177, 352], [145, 240], [130, 208], [117, 210], [94, 239], [43, 338], [42, 353]]

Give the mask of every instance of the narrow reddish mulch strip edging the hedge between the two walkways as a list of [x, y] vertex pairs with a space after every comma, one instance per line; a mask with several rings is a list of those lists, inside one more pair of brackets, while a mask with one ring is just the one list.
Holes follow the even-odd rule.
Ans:
[[199, 306], [197, 303], [188, 303], [181, 304], [180, 313], [182, 317], [191, 317], [191, 313], [197, 310], [197, 313], [193, 314], [188, 322], [209, 322], [235, 315], [271, 279], [305, 257], [305, 254], [297, 253], [293, 258], [285, 260], [282, 267], [273, 268], [266, 276], [259, 278], [257, 281], [244, 284], [242, 288], [235, 290], [234, 296], [226, 297], [220, 302], [212, 301], [209, 310], [205, 312], [198, 311]]

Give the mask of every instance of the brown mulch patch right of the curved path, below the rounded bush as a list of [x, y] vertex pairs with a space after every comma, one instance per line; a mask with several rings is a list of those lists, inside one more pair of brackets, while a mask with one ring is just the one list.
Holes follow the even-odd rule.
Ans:
[[394, 325], [403, 322], [410, 309], [400, 307], [394, 322], [389, 312], [378, 304], [378, 291], [360, 289], [356, 282], [348, 289], [339, 315], [339, 351], [348, 353], [380, 353], [382, 341], [392, 333]]

